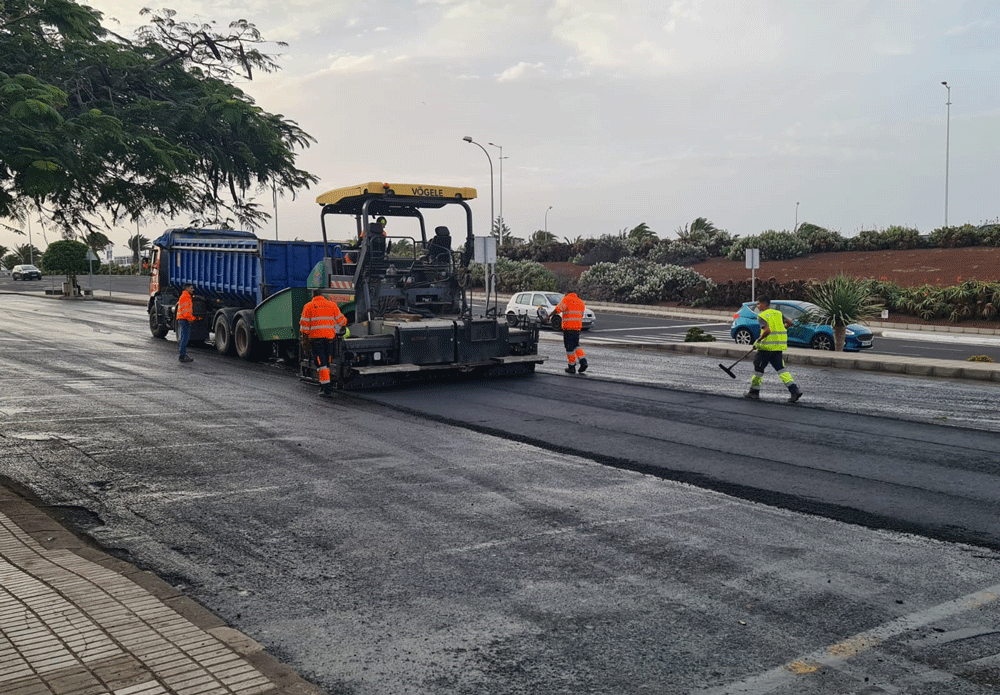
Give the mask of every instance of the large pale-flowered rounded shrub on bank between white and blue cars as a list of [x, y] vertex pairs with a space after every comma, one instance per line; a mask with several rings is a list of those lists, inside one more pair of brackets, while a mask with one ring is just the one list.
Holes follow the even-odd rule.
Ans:
[[580, 276], [578, 291], [595, 301], [649, 304], [690, 302], [712, 287], [711, 280], [690, 268], [626, 258], [592, 266]]

